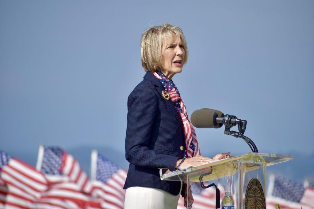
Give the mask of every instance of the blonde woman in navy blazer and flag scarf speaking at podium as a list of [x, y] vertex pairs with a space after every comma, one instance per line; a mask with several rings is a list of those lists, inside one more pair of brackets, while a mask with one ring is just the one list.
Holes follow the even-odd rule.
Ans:
[[[201, 156], [196, 133], [172, 77], [187, 62], [182, 30], [170, 24], [142, 34], [143, 81], [127, 99], [126, 159], [130, 162], [124, 185], [126, 209], [177, 208], [180, 194], [191, 207], [191, 187], [179, 181], [161, 181], [160, 168], [171, 171], [229, 157]], [[189, 200], [189, 201], [187, 201]]]

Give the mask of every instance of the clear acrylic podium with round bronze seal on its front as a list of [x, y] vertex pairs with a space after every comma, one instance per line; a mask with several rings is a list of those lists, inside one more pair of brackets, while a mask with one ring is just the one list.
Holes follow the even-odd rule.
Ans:
[[235, 208], [266, 208], [266, 166], [291, 159], [292, 155], [248, 153], [173, 172], [160, 169], [160, 179], [184, 182], [220, 179], [224, 184], [223, 177], [229, 176]]

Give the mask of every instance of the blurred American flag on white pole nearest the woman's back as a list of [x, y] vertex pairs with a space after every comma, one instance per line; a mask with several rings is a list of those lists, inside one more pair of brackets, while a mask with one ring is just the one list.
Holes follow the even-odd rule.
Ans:
[[123, 209], [125, 190], [123, 185], [127, 171], [104, 158], [96, 150], [91, 154], [91, 195], [100, 198], [106, 209]]

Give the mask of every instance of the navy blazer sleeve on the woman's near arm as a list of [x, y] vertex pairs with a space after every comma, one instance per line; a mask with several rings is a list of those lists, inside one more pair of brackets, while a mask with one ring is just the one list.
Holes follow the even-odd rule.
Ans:
[[149, 138], [158, 108], [157, 95], [149, 89], [138, 88], [127, 100], [127, 133], [125, 155], [133, 165], [158, 169], [175, 170], [176, 156], [156, 153], [149, 149]]

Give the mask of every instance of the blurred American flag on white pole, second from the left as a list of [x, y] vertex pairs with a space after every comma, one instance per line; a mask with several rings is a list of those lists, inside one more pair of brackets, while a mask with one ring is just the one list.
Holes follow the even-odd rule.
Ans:
[[78, 161], [61, 148], [40, 146], [36, 169], [51, 185], [36, 208], [103, 208], [103, 201], [90, 196], [89, 178]]

